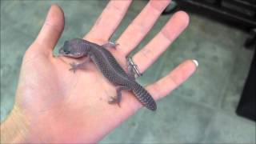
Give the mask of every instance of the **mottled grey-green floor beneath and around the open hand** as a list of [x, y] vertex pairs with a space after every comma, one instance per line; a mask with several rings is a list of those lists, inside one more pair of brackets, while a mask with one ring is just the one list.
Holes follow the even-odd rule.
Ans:
[[[88, 32], [106, 6], [106, 1], [1, 1], [1, 122], [14, 103], [22, 56], [52, 3], [62, 6], [66, 15], [66, 29], [58, 47], [64, 40]], [[146, 1], [135, 1], [130, 6], [113, 39], [145, 5]], [[162, 16], [138, 47], [149, 42], [169, 17]], [[156, 113], [140, 110], [101, 143], [255, 143], [255, 122], [234, 113], [253, 54], [242, 46], [246, 36], [240, 30], [190, 14], [188, 29], [139, 82], [154, 82], [187, 58], [199, 62], [194, 76], [158, 101]]]

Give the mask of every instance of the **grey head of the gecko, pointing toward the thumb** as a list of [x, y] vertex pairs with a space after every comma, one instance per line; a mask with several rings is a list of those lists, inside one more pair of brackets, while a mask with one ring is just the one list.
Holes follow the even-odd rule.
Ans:
[[64, 46], [58, 50], [59, 56], [71, 57], [71, 58], [81, 58], [86, 56], [87, 50], [86, 44], [82, 39], [75, 38], [70, 41], [66, 41]]

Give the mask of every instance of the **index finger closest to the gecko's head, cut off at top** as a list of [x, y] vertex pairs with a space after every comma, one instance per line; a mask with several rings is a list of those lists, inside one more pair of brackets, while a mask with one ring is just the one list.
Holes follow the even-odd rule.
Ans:
[[89, 34], [86, 34], [84, 38], [89, 41], [108, 41], [126, 14], [131, 2], [131, 0], [110, 1], [105, 10], [103, 10], [102, 14], [98, 17]]

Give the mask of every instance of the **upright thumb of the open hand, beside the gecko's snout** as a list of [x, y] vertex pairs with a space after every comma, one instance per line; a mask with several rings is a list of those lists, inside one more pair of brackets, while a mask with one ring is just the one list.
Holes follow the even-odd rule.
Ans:
[[40, 46], [33, 46], [43, 53], [51, 54], [64, 29], [64, 14], [58, 5], [50, 6], [46, 20], [36, 38], [35, 43]]

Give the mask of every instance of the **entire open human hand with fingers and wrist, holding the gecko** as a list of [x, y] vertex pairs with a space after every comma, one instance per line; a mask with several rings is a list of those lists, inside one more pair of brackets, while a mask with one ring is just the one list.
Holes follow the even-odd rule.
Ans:
[[[110, 1], [85, 39], [99, 45], [109, 41], [126, 14], [131, 1]], [[150, 1], [110, 49], [126, 68], [126, 55], [144, 38], [157, 21], [168, 0]], [[178, 37], [189, 23], [179, 11], [137, 54], [134, 63], [145, 71]], [[14, 108], [1, 124], [1, 142], [98, 142], [142, 105], [130, 92], [122, 92], [121, 107], [108, 104], [115, 95], [110, 84], [89, 62], [84, 70], [70, 71], [74, 58], [54, 57], [53, 49], [64, 29], [64, 14], [57, 5], [50, 7], [42, 30], [26, 50], [16, 91]], [[157, 82], [146, 86], [155, 100], [163, 98], [196, 70], [186, 60]], [[151, 113], [151, 111], [149, 111]]]

